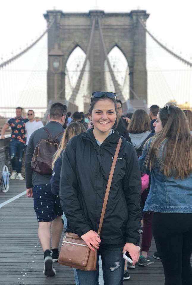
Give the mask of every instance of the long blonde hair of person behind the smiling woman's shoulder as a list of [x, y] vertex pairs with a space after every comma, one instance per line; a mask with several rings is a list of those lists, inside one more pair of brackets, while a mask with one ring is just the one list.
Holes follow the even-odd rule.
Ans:
[[86, 132], [86, 129], [84, 127], [84, 125], [82, 125], [80, 122], [71, 122], [69, 124], [69, 126], [65, 129], [64, 133], [63, 133], [63, 137], [60, 141], [59, 144], [59, 148], [56, 151], [55, 155], [54, 155], [54, 159], [52, 162], [52, 169], [54, 167], [54, 164], [57, 160], [57, 158], [60, 156], [62, 150], [66, 147], [68, 141], [76, 136], [77, 134], [81, 134], [82, 132]]

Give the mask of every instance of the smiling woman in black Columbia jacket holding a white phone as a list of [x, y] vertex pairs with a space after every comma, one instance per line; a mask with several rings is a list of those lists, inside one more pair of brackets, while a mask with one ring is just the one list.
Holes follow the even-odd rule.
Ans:
[[93, 92], [89, 108], [93, 128], [73, 137], [65, 148], [60, 176], [60, 201], [67, 231], [78, 234], [92, 251], [97, 270], [77, 269], [80, 285], [98, 284], [101, 255], [105, 285], [122, 285], [123, 253], [139, 259], [141, 173], [136, 151], [122, 137], [100, 237], [97, 236], [109, 172], [119, 141], [113, 92]]

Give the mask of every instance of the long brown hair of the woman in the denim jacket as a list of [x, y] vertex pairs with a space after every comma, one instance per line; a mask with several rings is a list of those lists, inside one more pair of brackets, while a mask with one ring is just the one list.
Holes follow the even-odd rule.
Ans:
[[[170, 106], [169, 110], [159, 109], [159, 118], [163, 129], [146, 142], [148, 153], [145, 167], [152, 170], [158, 161], [160, 171], [164, 175], [168, 177], [172, 175], [175, 179], [186, 178], [192, 172], [192, 135], [187, 118], [176, 106]], [[164, 141], [165, 145], [160, 156], [160, 146]]]

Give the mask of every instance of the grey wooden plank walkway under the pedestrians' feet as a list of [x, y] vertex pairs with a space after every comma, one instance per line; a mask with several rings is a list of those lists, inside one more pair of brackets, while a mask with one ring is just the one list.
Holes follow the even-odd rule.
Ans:
[[[0, 204], [24, 190], [25, 181], [10, 180], [10, 190], [0, 193]], [[37, 228], [32, 198], [23, 195], [0, 208], [0, 284], [75, 284], [73, 269], [56, 262], [56, 276], [43, 275], [43, 252]], [[149, 254], [154, 251], [156, 248], [153, 240]], [[147, 267], [136, 265], [135, 269], [129, 270], [129, 274], [131, 278], [124, 281], [124, 284], [164, 284], [163, 267], [157, 259]]]

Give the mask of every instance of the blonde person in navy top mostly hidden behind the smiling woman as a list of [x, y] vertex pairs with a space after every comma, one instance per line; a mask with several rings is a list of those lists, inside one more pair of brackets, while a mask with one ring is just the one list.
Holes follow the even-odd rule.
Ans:
[[[52, 163], [52, 176], [51, 176], [51, 192], [59, 196], [59, 179], [60, 179], [60, 172], [61, 172], [61, 166], [62, 166], [62, 154], [63, 151], [68, 143], [68, 141], [76, 136], [77, 134], [81, 134], [82, 132], [85, 132], [85, 127], [80, 122], [71, 122], [69, 126], [65, 129], [62, 140], [59, 144], [59, 148], [57, 152], [55, 153], [53, 163]], [[64, 219], [64, 227], [67, 227], [67, 219], [65, 215], [63, 214]], [[75, 277], [75, 283], [76, 285], [79, 285], [78, 276], [76, 269], [74, 270], [74, 277]]]

